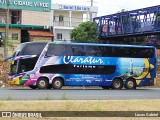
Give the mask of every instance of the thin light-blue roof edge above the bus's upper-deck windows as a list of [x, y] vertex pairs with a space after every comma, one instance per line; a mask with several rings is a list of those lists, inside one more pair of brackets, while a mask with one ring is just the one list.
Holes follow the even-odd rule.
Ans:
[[68, 43], [68, 42], [50, 42], [53, 44], [64, 44], [64, 45], [85, 45], [85, 46], [111, 46], [111, 47], [133, 47], [133, 48], [154, 48], [154, 46], [143, 46], [143, 45], [124, 45], [124, 44], [100, 44], [100, 43]]

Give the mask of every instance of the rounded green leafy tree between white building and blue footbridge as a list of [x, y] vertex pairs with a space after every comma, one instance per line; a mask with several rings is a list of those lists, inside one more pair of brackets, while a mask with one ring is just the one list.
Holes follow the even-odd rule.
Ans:
[[71, 32], [73, 42], [95, 43], [98, 42], [98, 25], [95, 22], [87, 21], [75, 27]]

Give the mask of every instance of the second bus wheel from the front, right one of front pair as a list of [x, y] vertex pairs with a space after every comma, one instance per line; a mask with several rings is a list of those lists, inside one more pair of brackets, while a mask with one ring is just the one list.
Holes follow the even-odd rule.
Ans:
[[63, 80], [61, 78], [55, 78], [52, 82], [53, 89], [61, 89], [63, 86]]

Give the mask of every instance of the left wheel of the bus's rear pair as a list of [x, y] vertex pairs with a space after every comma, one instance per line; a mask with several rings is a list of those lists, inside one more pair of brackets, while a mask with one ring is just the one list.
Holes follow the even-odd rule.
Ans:
[[123, 87], [123, 81], [119, 78], [115, 78], [113, 81], [112, 81], [112, 88], [113, 89], [122, 89]]

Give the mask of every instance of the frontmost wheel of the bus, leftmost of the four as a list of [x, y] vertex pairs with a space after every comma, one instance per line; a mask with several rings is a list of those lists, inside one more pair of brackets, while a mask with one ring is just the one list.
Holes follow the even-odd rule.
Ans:
[[48, 81], [46, 78], [39, 78], [37, 81], [37, 88], [38, 89], [47, 89]]

